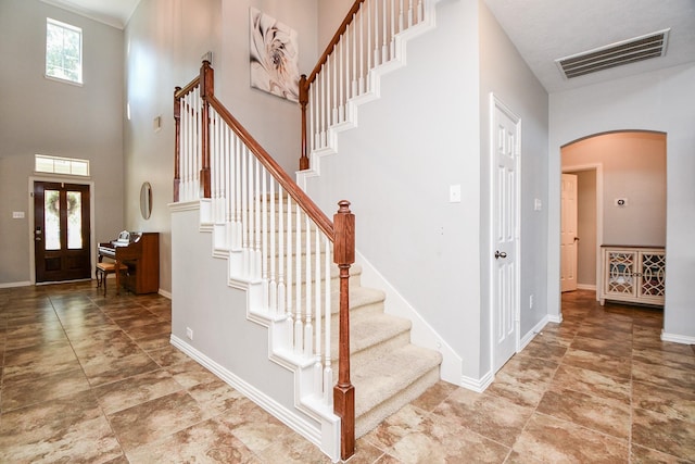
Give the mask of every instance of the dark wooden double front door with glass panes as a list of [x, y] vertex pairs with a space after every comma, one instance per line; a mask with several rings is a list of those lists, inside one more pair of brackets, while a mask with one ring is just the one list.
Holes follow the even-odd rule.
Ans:
[[91, 277], [89, 186], [34, 183], [36, 281]]

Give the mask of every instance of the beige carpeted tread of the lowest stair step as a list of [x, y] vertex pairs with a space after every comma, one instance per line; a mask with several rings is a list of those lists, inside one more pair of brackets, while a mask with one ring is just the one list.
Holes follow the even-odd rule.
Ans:
[[351, 372], [357, 421], [386, 399], [396, 396], [428, 372], [438, 368], [441, 361], [442, 355], [438, 351], [406, 344]]

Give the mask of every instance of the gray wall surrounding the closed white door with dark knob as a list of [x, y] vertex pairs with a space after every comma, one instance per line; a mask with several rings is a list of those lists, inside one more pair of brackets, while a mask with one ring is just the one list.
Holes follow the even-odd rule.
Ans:
[[[502, 27], [480, 1], [480, 140], [481, 140], [481, 276], [490, 278], [492, 248], [489, 227], [490, 217], [490, 93], [502, 100], [521, 118], [521, 166], [520, 166], [520, 337], [529, 339], [531, 330], [547, 314], [542, 294], [546, 287], [547, 261], [547, 135], [548, 96], [535, 78], [516, 47]], [[541, 201], [541, 210], [534, 210], [535, 200]], [[490, 294], [486, 284], [481, 286], [482, 311], [489, 313]], [[530, 297], [533, 296], [533, 308]], [[485, 330], [483, 330], [483, 328]], [[490, 329], [481, 326], [481, 331], [490, 336]], [[486, 344], [481, 343], [484, 353]]]

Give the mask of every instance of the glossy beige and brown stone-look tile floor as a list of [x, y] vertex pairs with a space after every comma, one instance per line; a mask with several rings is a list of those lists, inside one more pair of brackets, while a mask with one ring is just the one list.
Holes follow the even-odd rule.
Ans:
[[[351, 463], [695, 460], [695, 351], [659, 310], [563, 298], [484, 393], [440, 383]], [[324, 463], [168, 343], [170, 303], [93, 283], [0, 289], [0, 462]]]

